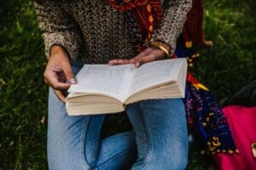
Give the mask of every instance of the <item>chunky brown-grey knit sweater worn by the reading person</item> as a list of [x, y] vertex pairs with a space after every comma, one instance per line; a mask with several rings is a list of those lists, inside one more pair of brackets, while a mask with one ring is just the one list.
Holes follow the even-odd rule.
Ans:
[[[55, 44], [65, 48], [71, 59], [79, 57], [87, 64], [131, 59], [137, 54], [127, 15], [104, 0], [42, 0], [34, 6], [48, 57]], [[191, 0], [166, 0], [162, 8], [163, 19], [149, 42], [166, 42], [174, 52]]]

